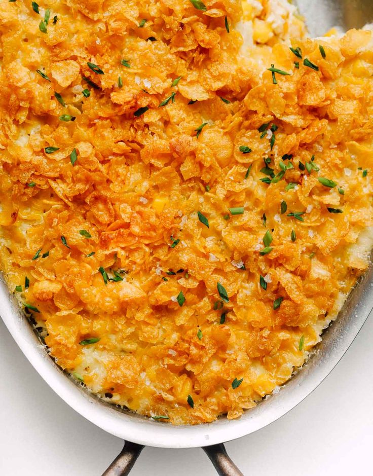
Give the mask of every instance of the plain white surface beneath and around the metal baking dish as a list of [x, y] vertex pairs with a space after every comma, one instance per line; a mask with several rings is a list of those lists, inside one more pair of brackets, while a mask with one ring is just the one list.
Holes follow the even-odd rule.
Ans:
[[[373, 318], [299, 406], [227, 443], [245, 476], [373, 474]], [[122, 441], [70, 409], [0, 319], [0, 475], [100, 476]], [[131, 476], [216, 476], [200, 449], [145, 448]]]

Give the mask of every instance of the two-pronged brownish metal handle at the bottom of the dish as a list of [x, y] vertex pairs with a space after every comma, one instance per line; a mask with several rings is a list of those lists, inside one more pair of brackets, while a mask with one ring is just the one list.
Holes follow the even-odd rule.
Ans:
[[[102, 476], [127, 476], [143, 449], [143, 445], [124, 442], [123, 450], [106, 471], [102, 473]], [[243, 476], [243, 473], [228, 456], [226, 448], [222, 443], [204, 446], [202, 449], [210, 458], [219, 476]]]

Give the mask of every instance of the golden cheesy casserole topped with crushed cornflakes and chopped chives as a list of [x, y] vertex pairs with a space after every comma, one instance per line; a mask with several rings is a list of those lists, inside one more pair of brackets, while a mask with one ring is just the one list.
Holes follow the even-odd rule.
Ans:
[[372, 32], [11, 0], [0, 38], [0, 264], [50, 355], [177, 425], [277, 391], [369, 263]]

